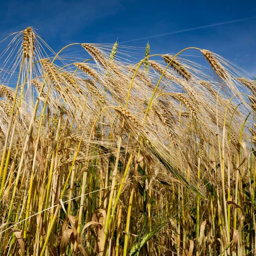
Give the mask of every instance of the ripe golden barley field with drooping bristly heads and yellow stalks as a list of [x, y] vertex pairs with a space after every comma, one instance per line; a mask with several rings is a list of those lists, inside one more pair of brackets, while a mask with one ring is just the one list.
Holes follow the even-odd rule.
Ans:
[[256, 256], [253, 76], [195, 47], [1, 45], [0, 255]]

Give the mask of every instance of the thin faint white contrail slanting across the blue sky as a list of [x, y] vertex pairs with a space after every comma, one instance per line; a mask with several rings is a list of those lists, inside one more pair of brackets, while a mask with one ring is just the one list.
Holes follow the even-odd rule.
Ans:
[[214, 23], [214, 24], [205, 25], [205, 26], [198, 26], [198, 27], [191, 28], [191, 29], [182, 29], [182, 30], [169, 32], [169, 33], [164, 33], [164, 34], [159, 34], [159, 35], [151, 35], [151, 36], [147, 36], [147, 37], [144, 37], [144, 38], [137, 38], [137, 39], [133, 39], [133, 40], [129, 40], [129, 41], [123, 41], [123, 42], [120, 42], [120, 44], [135, 42], [135, 41], [139, 41], [139, 40], [143, 40], [143, 39], [156, 38], [156, 37], [160, 37], [160, 36], [164, 36], [164, 35], [174, 35], [174, 34], [193, 31], [193, 30], [197, 30], [197, 29], [205, 29], [205, 28], [211, 28], [211, 27], [214, 27], [214, 26], [221, 26], [221, 25], [225, 25], [225, 24], [237, 23], [237, 22], [241, 22], [241, 21], [252, 20], [254, 18], [256, 18], [256, 16], [248, 17], [248, 18], [244, 18], [244, 19], [239, 19], [239, 20], [229, 20], [229, 21]]

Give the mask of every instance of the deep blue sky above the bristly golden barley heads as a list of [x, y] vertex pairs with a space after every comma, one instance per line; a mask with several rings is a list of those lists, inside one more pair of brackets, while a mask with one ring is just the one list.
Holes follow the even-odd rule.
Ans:
[[[114, 43], [117, 37], [128, 46], [144, 47], [149, 41], [151, 53], [194, 46], [256, 75], [255, 0], [6, 0], [0, 3], [0, 17], [0, 40], [33, 26], [55, 51], [73, 42]], [[234, 20], [242, 21], [189, 31]], [[180, 30], [187, 31], [152, 37]], [[144, 39], [131, 41], [139, 38]]]

